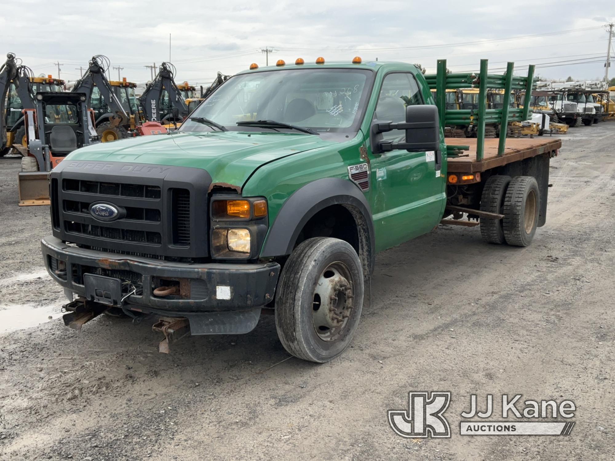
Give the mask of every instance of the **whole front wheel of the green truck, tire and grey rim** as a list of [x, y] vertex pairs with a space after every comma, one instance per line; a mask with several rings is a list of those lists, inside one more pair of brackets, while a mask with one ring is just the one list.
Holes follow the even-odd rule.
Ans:
[[276, 329], [289, 353], [324, 363], [344, 352], [363, 307], [357, 252], [338, 238], [309, 238], [288, 258], [276, 295]]

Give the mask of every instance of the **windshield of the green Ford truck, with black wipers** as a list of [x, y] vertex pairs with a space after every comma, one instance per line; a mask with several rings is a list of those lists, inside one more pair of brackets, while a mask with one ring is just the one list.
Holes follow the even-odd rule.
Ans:
[[[359, 130], [373, 73], [363, 69], [293, 69], [240, 74], [231, 77], [194, 111], [229, 130], [245, 120], [276, 120], [317, 132], [352, 133]], [[215, 129], [215, 128], [213, 128]], [[277, 128], [276, 130], [286, 130]], [[192, 120], [181, 131], [211, 131]]]

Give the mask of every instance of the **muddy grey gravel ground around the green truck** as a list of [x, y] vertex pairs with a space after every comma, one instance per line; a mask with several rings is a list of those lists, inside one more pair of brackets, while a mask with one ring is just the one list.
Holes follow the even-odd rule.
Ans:
[[[0, 159], [0, 459], [613, 459], [614, 135], [611, 122], [563, 136], [530, 248], [440, 226], [379, 254], [351, 348], [322, 365], [288, 358], [269, 316], [170, 355], [151, 322], [65, 328], [39, 254], [49, 211], [17, 207], [19, 160]], [[387, 409], [411, 390], [452, 393], [450, 439], [391, 430]], [[576, 426], [461, 436], [472, 393], [573, 400]]]

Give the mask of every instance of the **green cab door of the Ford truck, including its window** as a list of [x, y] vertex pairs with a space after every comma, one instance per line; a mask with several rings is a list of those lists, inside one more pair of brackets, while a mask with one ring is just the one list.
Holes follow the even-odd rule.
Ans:
[[[424, 104], [415, 76], [387, 74], [379, 90], [374, 120], [405, 122], [406, 106]], [[405, 131], [381, 133], [383, 141], [403, 142]], [[397, 149], [382, 154], [371, 152], [371, 210], [376, 232], [376, 251], [386, 250], [418, 235], [426, 234], [442, 218], [445, 178], [437, 152], [408, 152]], [[440, 157], [441, 159], [442, 157]]]

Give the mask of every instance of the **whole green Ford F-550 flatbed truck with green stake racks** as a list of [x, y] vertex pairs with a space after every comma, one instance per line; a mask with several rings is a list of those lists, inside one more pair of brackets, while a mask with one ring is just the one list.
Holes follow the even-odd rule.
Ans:
[[[168, 352], [188, 331], [248, 333], [272, 313], [292, 355], [336, 357], [379, 251], [440, 222], [516, 246], [544, 225], [560, 141], [485, 140], [485, 124], [528, 118], [509, 102], [532, 82], [532, 66], [488, 74], [486, 60], [478, 74], [438, 61], [432, 76], [360, 58], [278, 61], [231, 77], [177, 132], [74, 151], [50, 173], [53, 235], [42, 239], [73, 299], [66, 325], [149, 315]], [[478, 109], [446, 109], [446, 89], [467, 87]], [[494, 88], [504, 109], [486, 108]], [[464, 124], [478, 137], [445, 139], [446, 125]]]

